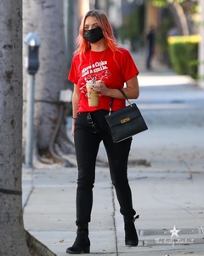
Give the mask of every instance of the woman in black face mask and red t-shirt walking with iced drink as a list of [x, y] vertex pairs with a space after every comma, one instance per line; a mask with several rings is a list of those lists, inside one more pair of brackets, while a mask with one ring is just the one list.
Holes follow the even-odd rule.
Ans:
[[[130, 99], [138, 98], [138, 74], [127, 49], [116, 44], [106, 15], [96, 9], [88, 11], [79, 28], [77, 51], [68, 77], [74, 84], [72, 135], [77, 155], [78, 179], [77, 238], [72, 247], [67, 248], [67, 253], [90, 252], [88, 222], [91, 219], [95, 163], [101, 141], [105, 145], [111, 181], [124, 218], [125, 243], [127, 246], [138, 245], [134, 220], [139, 217], [134, 217], [136, 212], [127, 180], [127, 160], [132, 138], [113, 143], [105, 120], [111, 98], [114, 98], [112, 111], [125, 107], [124, 96], [116, 88], [122, 88]], [[99, 92], [99, 106], [89, 107], [86, 84], [94, 80], [94, 90]]]

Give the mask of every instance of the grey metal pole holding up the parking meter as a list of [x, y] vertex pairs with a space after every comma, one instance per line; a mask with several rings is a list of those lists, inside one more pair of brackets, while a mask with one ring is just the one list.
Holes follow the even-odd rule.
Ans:
[[26, 137], [26, 167], [32, 167], [33, 155], [33, 119], [34, 119], [34, 90], [35, 76], [29, 76], [29, 84], [27, 86], [27, 137]]

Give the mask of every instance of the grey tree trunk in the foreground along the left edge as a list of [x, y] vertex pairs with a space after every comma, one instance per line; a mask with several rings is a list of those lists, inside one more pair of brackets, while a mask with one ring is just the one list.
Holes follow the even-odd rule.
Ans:
[[54, 256], [23, 224], [22, 0], [0, 2], [0, 60], [0, 255]]

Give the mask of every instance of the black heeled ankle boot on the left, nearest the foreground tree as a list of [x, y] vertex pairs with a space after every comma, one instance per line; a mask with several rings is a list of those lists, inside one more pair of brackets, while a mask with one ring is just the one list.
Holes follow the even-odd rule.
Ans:
[[81, 254], [90, 253], [90, 240], [88, 238], [88, 224], [78, 226], [77, 238], [72, 247], [66, 249], [66, 253]]

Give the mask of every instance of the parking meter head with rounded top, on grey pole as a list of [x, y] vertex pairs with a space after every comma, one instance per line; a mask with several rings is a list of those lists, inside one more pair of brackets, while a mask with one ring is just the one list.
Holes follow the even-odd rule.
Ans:
[[26, 68], [27, 72], [31, 75], [37, 73], [39, 67], [38, 52], [41, 40], [36, 32], [30, 32], [25, 38], [27, 44]]

